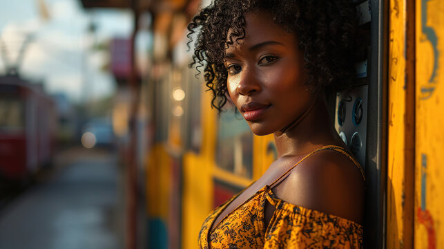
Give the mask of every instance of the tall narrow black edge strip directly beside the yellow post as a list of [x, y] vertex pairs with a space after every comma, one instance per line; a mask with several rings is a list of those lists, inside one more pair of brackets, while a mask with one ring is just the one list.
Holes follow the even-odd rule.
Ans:
[[372, 111], [367, 120], [364, 248], [385, 248], [388, 1], [369, 0], [369, 6], [372, 53], [368, 108]]

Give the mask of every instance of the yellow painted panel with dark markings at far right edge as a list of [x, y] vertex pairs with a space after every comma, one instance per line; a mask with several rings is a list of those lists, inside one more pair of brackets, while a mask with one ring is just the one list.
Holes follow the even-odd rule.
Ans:
[[416, 0], [415, 248], [444, 248], [444, 1]]

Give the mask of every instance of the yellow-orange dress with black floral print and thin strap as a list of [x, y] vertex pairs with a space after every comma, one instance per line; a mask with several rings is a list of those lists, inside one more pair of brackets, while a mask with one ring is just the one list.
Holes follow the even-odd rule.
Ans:
[[[350, 160], [353, 160], [363, 174], [359, 163], [342, 147], [327, 145], [311, 152], [305, 158], [324, 149], [345, 154]], [[218, 215], [240, 193], [213, 210], [200, 230], [200, 248], [361, 248], [363, 227], [360, 224], [340, 216], [325, 214], [276, 199], [271, 187], [286, 176], [291, 169], [270, 186], [262, 187], [250, 199], [226, 215], [210, 231]], [[264, 224], [266, 201], [276, 208], [268, 227]]]

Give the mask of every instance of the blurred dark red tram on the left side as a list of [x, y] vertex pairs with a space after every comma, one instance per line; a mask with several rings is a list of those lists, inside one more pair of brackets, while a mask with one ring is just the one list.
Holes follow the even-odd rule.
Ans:
[[57, 127], [55, 103], [41, 84], [0, 77], [0, 175], [24, 180], [50, 164]]

